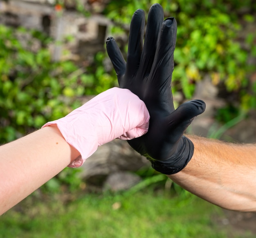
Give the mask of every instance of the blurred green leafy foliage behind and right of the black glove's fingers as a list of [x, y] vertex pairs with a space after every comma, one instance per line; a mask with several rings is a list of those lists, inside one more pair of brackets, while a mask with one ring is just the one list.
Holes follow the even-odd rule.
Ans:
[[[182, 91], [186, 98], [191, 98], [196, 82], [206, 74], [211, 76], [213, 84], [224, 82], [228, 91], [248, 87], [248, 75], [255, 67], [250, 66], [247, 59], [249, 54], [256, 56], [256, 34], [249, 33], [247, 36], [249, 51], [242, 48], [237, 37], [242, 29], [239, 10], [256, 9], [256, 4], [252, 0], [114, 0], [105, 11], [105, 14], [115, 22], [112, 33], [124, 33], [124, 27], [120, 22], [129, 24], [136, 9], [147, 10], [153, 3], [161, 4], [165, 16], [174, 16], [178, 24], [174, 54], [174, 91]], [[253, 15], [243, 16], [245, 23], [254, 21]], [[241, 108], [255, 108], [256, 92], [249, 93], [250, 97], [245, 91], [243, 93], [240, 100]]]

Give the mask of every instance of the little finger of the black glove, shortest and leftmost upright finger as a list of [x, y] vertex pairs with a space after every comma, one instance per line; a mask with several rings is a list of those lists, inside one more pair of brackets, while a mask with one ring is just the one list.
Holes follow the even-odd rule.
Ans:
[[[117, 45], [117, 42], [113, 37], [108, 37], [108, 39], [106, 40], [106, 46], [107, 46], [108, 56], [110, 57], [110, 60], [117, 73], [117, 79], [119, 82], [121, 81], [121, 78], [122, 78], [121, 76], [123, 76], [126, 71], [126, 62]], [[121, 84], [122, 83], [119, 82], [120, 87], [122, 87]]]

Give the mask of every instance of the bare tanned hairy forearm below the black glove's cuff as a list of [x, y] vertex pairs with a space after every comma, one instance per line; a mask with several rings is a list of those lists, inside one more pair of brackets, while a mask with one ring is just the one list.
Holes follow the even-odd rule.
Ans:
[[225, 209], [256, 212], [256, 145], [196, 136], [189, 139], [195, 147], [191, 161], [168, 177]]

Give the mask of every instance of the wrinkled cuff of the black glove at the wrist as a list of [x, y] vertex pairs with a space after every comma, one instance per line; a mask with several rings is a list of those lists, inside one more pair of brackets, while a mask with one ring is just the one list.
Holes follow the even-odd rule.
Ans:
[[152, 167], [162, 174], [176, 174], [186, 167], [193, 156], [194, 145], [187, 137], [182, 137], [180, 148], [177, 154], [173, 154], [169, 159], [164, 161], [149, 159]]

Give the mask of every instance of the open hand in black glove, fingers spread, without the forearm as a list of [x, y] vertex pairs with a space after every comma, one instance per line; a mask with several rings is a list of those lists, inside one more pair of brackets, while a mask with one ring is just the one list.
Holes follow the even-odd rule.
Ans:
[[174, 109], [171, 78], [177, 32], [175, 18], [164, 20], [161, 5], [154, 4], [148, 13], [143, 46], [144, 24], [145, 13], [139, 9], [130, 24], [127, 62], [112, 37], [107, 39], [107, 51], [119, 86], [138, 95], [150, 114], [148, 133], [128, 143], [146, 156], [155, 170], [174, 174], [193, 155], [193, 143], [183, 134], [193, 118], [204, 112], [205, 104], [193, 100]]

